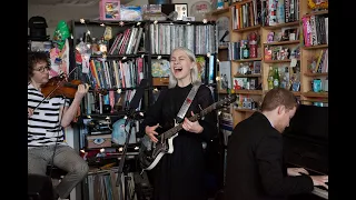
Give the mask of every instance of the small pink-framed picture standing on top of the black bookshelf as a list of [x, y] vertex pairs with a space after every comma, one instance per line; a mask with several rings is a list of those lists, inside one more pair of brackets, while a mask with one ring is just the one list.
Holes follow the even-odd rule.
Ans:
[[120, 20], [120, 0], [100, 0], [100, 20]]

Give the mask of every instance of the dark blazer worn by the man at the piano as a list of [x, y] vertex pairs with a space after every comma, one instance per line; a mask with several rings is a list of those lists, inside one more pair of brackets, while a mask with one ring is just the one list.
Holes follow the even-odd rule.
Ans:
[[286, 170], [281, 133], [255, 112], [229, 137], [225, 200], [279, 200], [313, 191], [310, 177], [288, 177]]

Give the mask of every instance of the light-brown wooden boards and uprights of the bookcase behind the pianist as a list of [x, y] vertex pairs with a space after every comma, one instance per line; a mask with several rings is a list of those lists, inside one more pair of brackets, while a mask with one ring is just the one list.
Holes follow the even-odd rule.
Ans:
[[[241, 6], [244, 3], [247, 2], [251, 2], [253, 0], [243, 0], [239, 2], [235, 2], [231, 3], [231, 6], [229, 7], [229, 9], [234, 8], [235, 6]], [[247, 28], [240, 28], [240, 29], [233, 29], [233, 26], [229, 24], [229, 41], [240, 41], [240, 40], [246, 40], [248, 38], [248, 34], [251, 31], [256, 31], [258, 32], [258, 57], [260, 58], [253, 58], [253, 59], [240, 59], [240, 60], [230, 60], [231, 64], [230, 64], [230, 71], [231, 71], [231, 79], [234, 78], [255, 78], [259, 80], [259, 83], [261, 84], [263, 90], [231, 90], [231, 93], [235, 94], [245, 94], [245, 96], [249, 96], [251, 97], [255, 101], [260, 102], [264, 98], [264, 96], [266, 94], [266, 92], [268, 90], [265, 90], [268, 88], [268, 81], [267, 81], [267, 76], [268, 76], [268, 70], [270, 67], [285, 67], [285, 66], [290, 66], [290, 63], [297, 61], [297, 68], [294, 69], [298, 69], [299, 71], [299, 80], [300, 80], [300, 89], [301, 91], [293, 91], [294, 96], [300, 100], [300, 101], [309, 101], [306, 102], [306, 104], [313, 104], [310, 102], [327, 102], [328, 99], [328, 92], [312, 92], [308, 91], [310, 89], [310, 79], [324, 79], [327, 78], [328, 73], [312, 73], [308, 69], [308, 59], [312, 57], [317, 57], [319, 54], [319, 51], [322, 50], [327, 50], [328, 44], [320, 44], [320, 46], [314, 46], [314, 47], [304, 47], [304, 39], [303, 39], [303, 21], [301, 18], [304, 16], [312, 16], [312, 14], [326, 14], [325, 17], [327, 17], [328, 11], [324, 10], [324, 11], [317, 11], [317, 12], [312, 12], [310, 9], [308, 8], [308, 6], [306, 4], [306, 0], [300, 1], [300, 3], [298, 4], [298, 10], [300, 12], [299, 18], [296, 18], [297, 21], [293, 21], [293, 22], [287, 22], [287, 23], [278, 23], [276, 26], [263, 26], [263, 24], [258, 24], [258, 26], [253, 26], [253, 27], [247, 27]], [[228, 12], [221, 14], [225, 17], [229, 17], [230, 20], [233, 19], [233, 12], [230, 10], [228, 10]], [[255, 23], [253, 23], [255, 24]], [[280, 32], [283, 29], [288, 29], [288, 28], [298, 28], [299, 32], [300, 32], [300, 37], [296, 37], [297, 40], [293, 40], [293, 41], [270, 41], [267, 42], [267, 38], [269, 36], [269, 32], [275, 32], [278, 33]], [[222, 44], [222, 43], [221, 43]], [[285, 60], [265, 60], [265, 48], [274, 48], [274, 47], [283, 47], [283, 48], [288, 48], [289, 49], [289, 53], [291, 49], [298, 48], [299, 49], [299, 53], [298, 58], [296, 57], [291, 57], [293, 59], [285, 59]], [[218, 51], [218, 56], [220, 60], [228, 60], [228, 50], [222, 50], [222, 51]], [[289, 57], [284, 57], [284, 58], [289, 58]], [[243, 64], [244, 62], [254, 62], [254, 61], [260, 61], [260, 74], [240, 74], [238, 73], [237, 67], [239, 64]], [[289, 69], [291, 70], [291, 69]], [[304, 89], [303, 89], [304, 88]], [[260, 89], [260, 88], [258, 88]], [[308, 91], [308, 92], [306, 92]], [[225, 93], [228, 93], [226, 91], [220, 91], [220, 97], [224, 97]], [[255, 110], [248, 110], [248, 109], [243, 109], [241, 107], [239, 108], [231, 108], [230, 110], [233, 113], [233, 118], [234, 118], [234, 124], [236, 126], [237, 123], [239, 123], [240, 121], [243, 121], [244, 119], [248, 118]]]

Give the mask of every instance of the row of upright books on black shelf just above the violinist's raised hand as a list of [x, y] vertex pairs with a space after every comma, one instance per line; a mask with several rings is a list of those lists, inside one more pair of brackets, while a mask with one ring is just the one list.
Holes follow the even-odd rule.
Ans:
[[144, 78], [144, 59], [128, 60], [91, 59], [88, 79], [93, 88], [135, 88]]

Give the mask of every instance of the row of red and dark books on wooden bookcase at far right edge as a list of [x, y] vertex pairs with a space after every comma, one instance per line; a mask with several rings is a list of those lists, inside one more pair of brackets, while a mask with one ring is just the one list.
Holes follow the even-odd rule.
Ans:
[[301, 20], [305, 47], [328, 43], [328, 17], [305, 16]]

